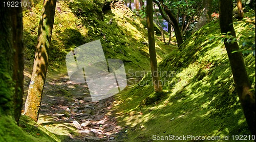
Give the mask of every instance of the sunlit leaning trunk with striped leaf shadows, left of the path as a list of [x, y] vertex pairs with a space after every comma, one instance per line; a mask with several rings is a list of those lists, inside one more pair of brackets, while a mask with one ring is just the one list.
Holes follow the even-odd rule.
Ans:
[[25, 115], [37, 122], [48, 67], [49, 46], [54, 23], [56, 0], [45, 0], [38, 27], [38, 39], [32, 78], [25, 103]]

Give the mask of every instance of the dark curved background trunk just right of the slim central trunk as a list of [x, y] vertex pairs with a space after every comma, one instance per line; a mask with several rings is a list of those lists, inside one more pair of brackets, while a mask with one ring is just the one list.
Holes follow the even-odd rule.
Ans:
[[180, 46], [183, 43], [183, 39], [182, 39], [181, 31], [180, 31], [180, 28], [179, 28], [179, 23], [178, 23], [175, 15], [172, 13], [172, 11], [170, 11], [170, 9], [167, 6], [164, 5], [163, 0], [159, 0], [159, 2], [161, 4], [163, 10], [166, 12], [166, 14], [170, 18], [170, 20], [172, 20], [172, 22], [173, 22], [173, 27], [174, 27], [176, 40], [178, 42], [178, 46]]

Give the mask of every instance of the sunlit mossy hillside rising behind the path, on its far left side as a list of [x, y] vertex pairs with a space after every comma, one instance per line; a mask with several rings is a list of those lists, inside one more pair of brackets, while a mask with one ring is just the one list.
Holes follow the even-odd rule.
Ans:
[[[49, 49], [49, 69], [62, 72], [65, 56], [79, 45], [100, 39], [106, 58], [124, 62], [127, 70], [150, 69], [147, 31], [139, 18], [120, 3], [112, 1], [58, 1]], [[37, 42], [37, 27], [42, 1], [24, 10], [25, 58], [33, 61]], [[112, 21], [110, 23], [110, 21]], [[159, 40], [157, 40], [159, 42]], [[170, 51], [170, 46], [160, 48], [158, 60]], [[32, 63], [30, 63], [32, 64]], [[31, 65], [30, 65], [31, 66]], [[65, 71], [65, 70], [64, 70]], [[131, 72], [131, 71], [130, 71]]]

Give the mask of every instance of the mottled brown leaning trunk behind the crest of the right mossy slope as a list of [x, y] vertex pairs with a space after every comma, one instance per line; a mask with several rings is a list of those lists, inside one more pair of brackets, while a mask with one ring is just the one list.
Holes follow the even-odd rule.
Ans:
[[193, 29], [193, 33], [211, 21], [211, 3], [212, 0], [203, 0], [201, 16]]

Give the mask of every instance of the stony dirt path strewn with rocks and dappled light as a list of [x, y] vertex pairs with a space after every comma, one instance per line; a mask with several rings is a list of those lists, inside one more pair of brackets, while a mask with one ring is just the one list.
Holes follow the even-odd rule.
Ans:
[[[30, 76], [25, 71], [25, 94]], [[87, 84], [47, 75], [38, 123], [62, 141], [125, 141], [125, 130], [109, 113], [113, 101], [110, 97], [91, 102]]]

